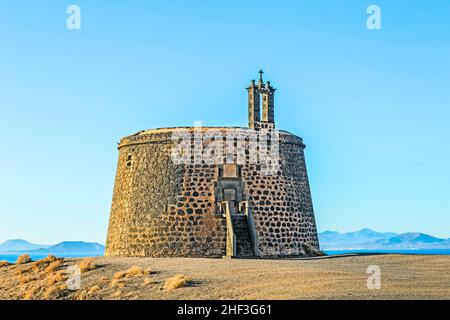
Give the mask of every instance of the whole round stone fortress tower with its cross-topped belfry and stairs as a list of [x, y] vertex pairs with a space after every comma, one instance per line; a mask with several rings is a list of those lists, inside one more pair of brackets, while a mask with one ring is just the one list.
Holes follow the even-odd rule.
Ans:
[[275, 89], [262, 71], [247, 90], [248, 128], [196, 124], [120, 141], [105, 255], [319, 253], [305, 145], [275, 129]]

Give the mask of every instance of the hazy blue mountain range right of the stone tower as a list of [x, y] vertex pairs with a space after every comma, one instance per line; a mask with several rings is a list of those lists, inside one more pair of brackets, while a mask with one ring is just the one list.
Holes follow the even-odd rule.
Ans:
[[319, 233], [322, 250], [395, 250], [395, 249], [450, 249], [450, 240], [424, 233], [377, 232], [362, 229], [356, 232]]

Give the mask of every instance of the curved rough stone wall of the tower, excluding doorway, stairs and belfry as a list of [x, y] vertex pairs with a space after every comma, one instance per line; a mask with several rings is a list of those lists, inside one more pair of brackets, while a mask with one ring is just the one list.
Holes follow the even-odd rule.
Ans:
[[[198, 133], [194, 128], [155, 129], [121, 140], [107, 256], [225, 255], [226, 222], [215, 195], [221, 166], [208, 159], [186, 162], [201, 151], [173, 161], [173, 134], [179, 130]], [[201, 134], [245, 139], [249, 130], [254, 132], [202, 128]], [[237, 159], [238, 153], [245, 155], [241, 166], [244, 198], [255, 221], [258, 256], [303, 255], [305, 246], [319, 249], [303, 142], [284, 131], [279, 137], [280, 157], [269, 168], [251, 161], [253, 150], [248, 145], [234, 143], [231, 155], [224, 156], [225, 161], [230, 156]], [[199, 142], [185, 140], [179, 145], [183, 143], [196, 150]]]

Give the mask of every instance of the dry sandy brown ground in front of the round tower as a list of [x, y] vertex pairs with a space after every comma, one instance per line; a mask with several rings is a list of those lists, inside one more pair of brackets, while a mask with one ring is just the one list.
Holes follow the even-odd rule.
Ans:
[[[96, 258], [81, 274], [81, 289], [32, 263], [0, 267], [0, 299], [450, 299], [450, 256], [371, 255], [306, 260]], [[381, 289], [367, 288], [367, 267], [381, 268]], [[114, 274], [133, 266], [150, 274]], [[18, 271], [20, 270], [20, 271]], [[58, 271], [59, 270], [59, 271]], [[169, 290], [183, 274], [186, 286]], [[60, 277], [61, 278], [61, 277]]]

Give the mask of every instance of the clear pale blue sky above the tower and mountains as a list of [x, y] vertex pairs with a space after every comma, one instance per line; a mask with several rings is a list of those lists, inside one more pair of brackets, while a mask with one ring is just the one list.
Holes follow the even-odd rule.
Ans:
[[450, 237], [450, 1], [2, 1], [0, 39], [0, 241], [104, 242], [120, 137], [246, 125], [260, 67], [319, 230]]

